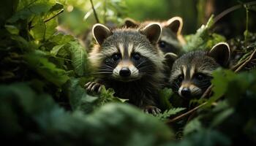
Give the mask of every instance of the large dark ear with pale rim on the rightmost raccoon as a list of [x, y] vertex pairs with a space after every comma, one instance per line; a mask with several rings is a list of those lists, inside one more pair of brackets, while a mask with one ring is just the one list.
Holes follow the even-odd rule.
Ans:
[[230, 47], [226, 42], [219, 42], [211, 48], [208, 55], [217, 61], [221, 66], [227, 66], [230, 60]]

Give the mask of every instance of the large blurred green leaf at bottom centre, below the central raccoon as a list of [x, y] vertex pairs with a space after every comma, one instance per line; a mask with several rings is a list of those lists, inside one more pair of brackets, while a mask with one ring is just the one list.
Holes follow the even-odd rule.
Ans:
[[173, 139], [164, 123], [129, 104], [105, 104], [88, 121], [91, 139], [97, 145], [160, 145]]

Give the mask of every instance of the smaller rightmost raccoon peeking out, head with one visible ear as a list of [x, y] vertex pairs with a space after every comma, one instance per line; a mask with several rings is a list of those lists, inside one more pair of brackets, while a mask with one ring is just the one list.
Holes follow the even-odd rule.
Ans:
[[185, 53], [172, 66], [170, 85], [185, 99], [200, 97], [211, 85], [212, 72], [227, 66], [230, 47], [220, 42], [209, 51], [196, 50]]

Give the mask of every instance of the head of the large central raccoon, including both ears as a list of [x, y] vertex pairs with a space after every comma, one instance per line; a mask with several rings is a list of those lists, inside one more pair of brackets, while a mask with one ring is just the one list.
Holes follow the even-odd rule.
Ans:
[[[102, 30], [109, 34], [101, 42], [102, 34], [97, 33]], [[90, 58], [99, 63], [99, 74], [113, 80], [131, 82], [142, 77], [151, 77], [162, 66], [162, 54], [155, 46], [161, 30], [157, 23], [149, 24], [141, 31], [110, 31], [102, 25], [94, 26], [94, 37], [100, 46], [97, 53], [91, 54]]]

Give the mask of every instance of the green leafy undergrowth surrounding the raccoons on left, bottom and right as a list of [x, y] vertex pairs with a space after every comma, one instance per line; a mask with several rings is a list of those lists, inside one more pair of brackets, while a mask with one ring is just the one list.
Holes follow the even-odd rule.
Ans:
[[[4, 141], [29, 145], [255, 145], [255, 34], [246, 42], [231, 40], [236, 73], [231, 69], [214, 72], [213, 96], [194, 100], [184, 108], [165, 88], [159, 97], [166, 111], [153, 117], [115, 97], [112, 89], [86, 93], [83, 85], [92, 79], [87, 53], [77, 39], [55, 30], [55, 16], [63, 10], [61, 2], [4, 3], [4, 23], [0, 23], [0, 131]], [[225, 40], [211, 34], [210, 27], [211, 21], [188, 38], [185, 48], [203, 49]], [[241, 70], [249, 72], [237, 73]]]

